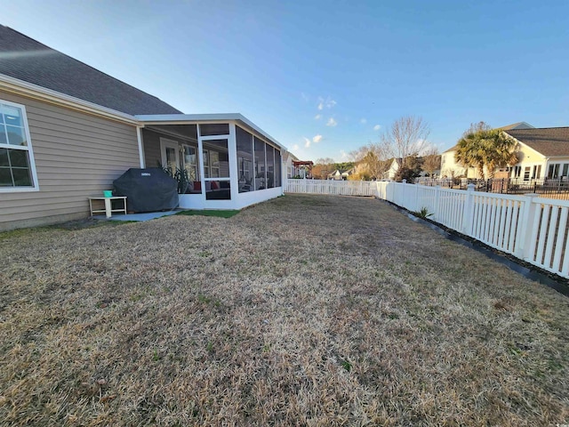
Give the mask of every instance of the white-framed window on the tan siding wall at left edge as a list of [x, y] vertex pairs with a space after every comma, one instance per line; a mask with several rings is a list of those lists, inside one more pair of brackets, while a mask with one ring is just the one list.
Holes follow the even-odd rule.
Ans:
[[26, 108], [0, 101], [0, 192], [37, 189]]

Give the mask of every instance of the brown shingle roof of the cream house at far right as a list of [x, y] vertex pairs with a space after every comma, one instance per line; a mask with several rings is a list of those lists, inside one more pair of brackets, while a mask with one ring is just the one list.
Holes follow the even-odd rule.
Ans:
[[543, 156], [569, 156], [569, 127], [542, 127], [507, 131]]

